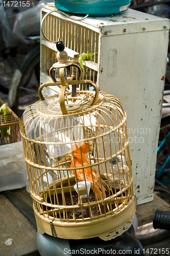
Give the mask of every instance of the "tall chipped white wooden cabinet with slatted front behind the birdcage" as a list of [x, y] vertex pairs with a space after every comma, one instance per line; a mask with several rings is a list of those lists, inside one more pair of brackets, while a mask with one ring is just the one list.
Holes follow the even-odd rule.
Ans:
[[[55, 10], [53, 6], [42, 5], [42, 17]], [[79, 54], [86, 51], [96, 53], [84, 61], [83, 78], [97, 82], [101, 91], [123, 104], [137, 201], [152, 201], [169, 20], [129, 9], [116, 16], [75, 22], [53, 12], [43, 30], [51, 40], [64, 41], [71, 59], [79, 61]], [[41, 35], [41, 82], [50, 80], [47, 72], [56, 62], [55, 51], [55, 44]]]

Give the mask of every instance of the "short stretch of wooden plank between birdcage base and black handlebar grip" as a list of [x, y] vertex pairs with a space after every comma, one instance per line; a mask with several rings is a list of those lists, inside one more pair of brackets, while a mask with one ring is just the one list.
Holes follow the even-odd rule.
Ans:
[[152, 202], [138, 205], [136, 210], [138, 226], [153, 222], [157, 209], [170, 211], [170, 205], [155, 194]]

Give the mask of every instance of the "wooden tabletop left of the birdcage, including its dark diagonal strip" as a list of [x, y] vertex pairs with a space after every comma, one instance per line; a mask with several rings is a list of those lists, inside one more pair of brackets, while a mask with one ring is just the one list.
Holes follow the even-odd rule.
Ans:
[[26, 217], [21, 212], [21, 208], [23, 212], [27, 211], [29, 214], [33, 212], [32, 198], [26, 188], [11, 190], [12, 193], [8, 192], [7, 195], [6, 191], [0, 193], [0, 255], [40, 256], [36, 245], [36, 228], [34, 227], [36, 223], [32, 221], [34, 216], [31, 216], [33, 222], [31, 223], [28, 216]]

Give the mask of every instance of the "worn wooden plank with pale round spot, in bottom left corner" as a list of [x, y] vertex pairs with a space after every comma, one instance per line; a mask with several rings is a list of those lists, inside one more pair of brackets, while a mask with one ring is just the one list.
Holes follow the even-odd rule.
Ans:
[[[29, 220], [0, 193], [0, 255], [39, 255], [37, 252], [36, 229]], [[6, 245], [7, 239], [12, 239], [11, 244]]]

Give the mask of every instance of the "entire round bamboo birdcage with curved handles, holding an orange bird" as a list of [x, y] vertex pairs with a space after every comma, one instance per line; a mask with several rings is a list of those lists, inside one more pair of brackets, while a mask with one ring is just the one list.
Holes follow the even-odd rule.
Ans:
[[[64, 239], [110, 240], [131, 226], [136, 209], [127, 116], [116, 97], [81, 80], [81, 68], [63, 49], [50, 70], [53, 82], [42, 84], [40, 100], [20, 121], [37, 227], [41, 234]], [[74, 66], [78, 80], [70, 74]], [[53, 76], [55, 68], [60, 81]], [[80, 84], [94, 91], [79, 91]], [[46, 86], [61, 86], [60, 93], [44, 99]]]

